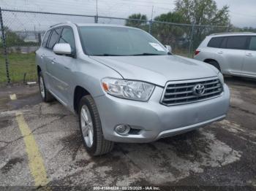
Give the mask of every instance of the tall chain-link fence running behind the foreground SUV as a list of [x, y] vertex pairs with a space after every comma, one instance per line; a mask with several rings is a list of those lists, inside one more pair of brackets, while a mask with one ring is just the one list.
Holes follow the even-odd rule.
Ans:
[[234, 31], [234, 28], [228, 26], [197, 26], [157, 20], [12, 9], [1, 9], [0, 12], [0, 83], [37, 79], [34, 52], [39, 47], [45, 30], [56, 23], [106, 23], [141, 28], [162, 44], [170, 44], [175, 54], [188, 57], [192, 57], [194, 50], [207, 35]]

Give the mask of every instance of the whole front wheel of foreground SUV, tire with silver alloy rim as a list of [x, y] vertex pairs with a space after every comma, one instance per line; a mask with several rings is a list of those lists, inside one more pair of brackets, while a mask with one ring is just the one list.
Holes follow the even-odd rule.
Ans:
[[[80, 99], [78, 114], [80, 132], [89, 155], [97, 156], [110, 152], [113, 149], [114, 143], [104, 139], [99, 112], [91, 95], [83, 96]], [[87, 121], [85, 120], [86, 116]]]

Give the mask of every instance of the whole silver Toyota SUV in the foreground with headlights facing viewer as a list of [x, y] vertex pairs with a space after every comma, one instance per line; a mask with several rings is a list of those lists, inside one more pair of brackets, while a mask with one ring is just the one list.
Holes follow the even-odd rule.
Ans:
[[78, 114], [90, 155], [222, 120], [230, 100], [222, 74], [167, 49], [138, 28], [53, 26], [36, 55], [42, 100]]

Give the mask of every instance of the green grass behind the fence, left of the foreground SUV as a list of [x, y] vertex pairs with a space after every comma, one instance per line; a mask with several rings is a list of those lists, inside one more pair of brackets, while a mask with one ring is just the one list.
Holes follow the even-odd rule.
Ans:
[[[35, 54], [8, 54], [9, 74], [12, 83], [23, 82], [24, 74], [26, 81], [34, 81], [37, 79], [37, 69], [35, 64]], [[7, 82], [4, 55], [0, 55], [0, 83]]]

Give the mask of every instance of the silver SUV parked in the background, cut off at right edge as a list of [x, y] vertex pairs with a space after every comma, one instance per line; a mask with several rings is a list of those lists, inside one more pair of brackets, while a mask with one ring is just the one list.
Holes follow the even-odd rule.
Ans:
[[212, 34], [195, 51], [195, 59], [222, 74], [256, 78], [256, 34]]

